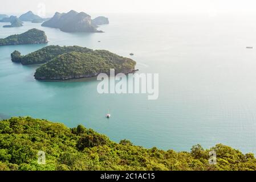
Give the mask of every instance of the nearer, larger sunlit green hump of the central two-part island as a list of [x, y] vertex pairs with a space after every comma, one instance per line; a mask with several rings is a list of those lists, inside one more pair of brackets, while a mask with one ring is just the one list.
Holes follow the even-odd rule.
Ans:
[[35, 78], [46, 80], [67, 80], [71, 78], [94, 77], [99, 73], [130, 73], [136, 62], [115, 55], [109, 51], [97, 50], [87, 53], [70, 52], [59, 55], [36, 69]]

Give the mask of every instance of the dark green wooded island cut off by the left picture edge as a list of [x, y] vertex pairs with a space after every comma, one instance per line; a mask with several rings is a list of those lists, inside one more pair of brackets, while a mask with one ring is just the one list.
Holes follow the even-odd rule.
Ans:
[[45, 32], [36, 28], [32, 28], [23, 34], [10, 35], [5, 39], [0, 39], [0, 46], [45, 43], [48, 43]]

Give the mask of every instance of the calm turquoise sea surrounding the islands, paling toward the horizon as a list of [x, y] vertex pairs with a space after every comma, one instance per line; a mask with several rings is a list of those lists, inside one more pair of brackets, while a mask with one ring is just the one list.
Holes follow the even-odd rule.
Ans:
[[[46, 45], [0, 47], [0, 117], [30, 115], [83, 124], [119, 142], [189, 151], [197, 143], [224, 143], [256, 153], [256, 16], [108, 15], [104, 34], [65, 33], [26, 22], [2, 28], [0, 37], [44, 30], [49, 44], [135, 53], [139, 73], [159, 73], [159, 99], [147, 94], [98, 94], [95, 78], [34, 80], [36, 65], [12, 63]], [[100, 43], [98, 41], [101, 41]], [[112, 118], [106, 119], [110, 111]]]

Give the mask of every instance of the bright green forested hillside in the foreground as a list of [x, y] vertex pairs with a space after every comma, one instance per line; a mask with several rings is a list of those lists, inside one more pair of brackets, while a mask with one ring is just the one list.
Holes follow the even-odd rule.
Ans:
[[[208, 163], [212, 150], [217, 165]], [[37, 163], [38, 151], [46, 152], [46, 164]], [[0, 170], [256, 170], [256, 159], [222, 144], [190, 152], [146, 149], [128, 140], [112, 142], [81, 125], [69, 129], [19, 117], [0, 121]]]

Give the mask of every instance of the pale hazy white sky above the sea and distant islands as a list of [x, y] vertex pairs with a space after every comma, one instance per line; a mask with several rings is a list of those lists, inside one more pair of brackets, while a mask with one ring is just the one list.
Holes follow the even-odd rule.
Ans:
[[0, 14], [32, 10], [46, 15], [71, 9], [86, 13], [253, 13], [255, 0], [1, 0]]

